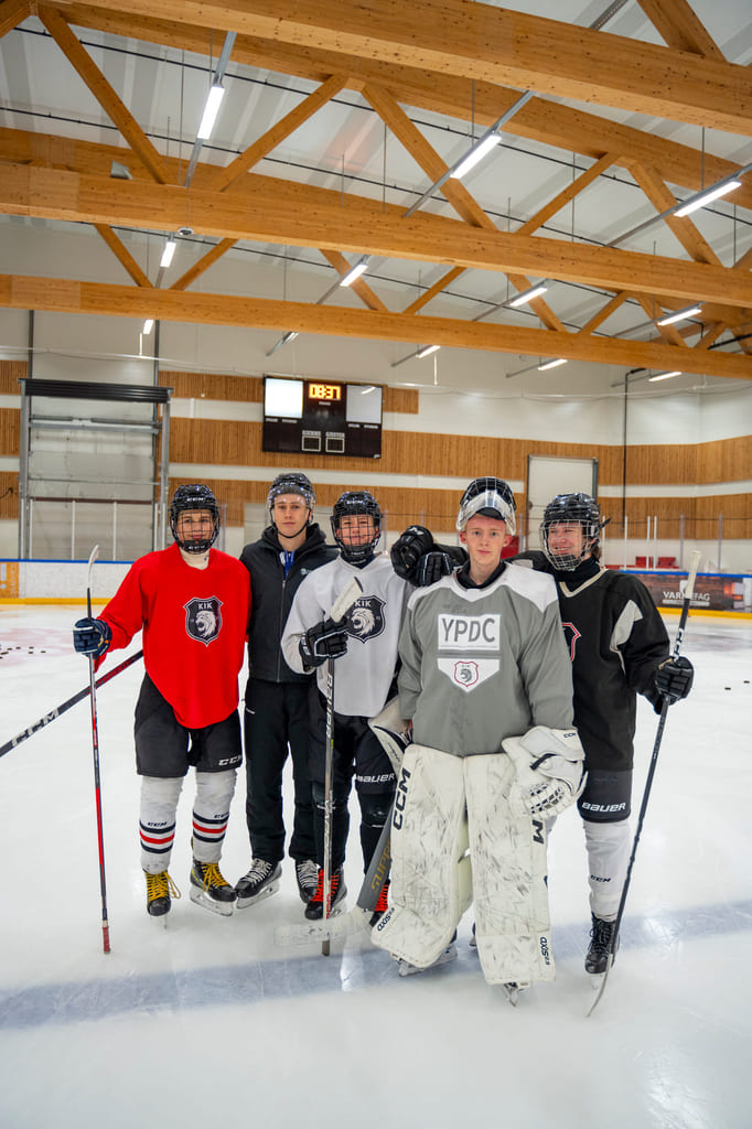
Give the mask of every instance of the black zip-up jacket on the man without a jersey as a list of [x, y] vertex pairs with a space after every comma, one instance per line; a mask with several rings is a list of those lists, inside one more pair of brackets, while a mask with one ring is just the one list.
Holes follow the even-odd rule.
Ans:
[[295, 550], [292, 567], [285, 579], [285, 553], [277, 530], [269, 526], [259, 541], [246, 545], [241, 563], [251, 574], [251, 627], [248, 630], [248, 668], [252, 679], [264, 682], [307, 682], [309, 675], [297, 674], [285, 662], [280, 648], [282, 628], [287, 622], [292, 597], [301, 581], [314, 569], [336, 557], [327, 545], [317, 524], [306, 530], [306, 540]]

